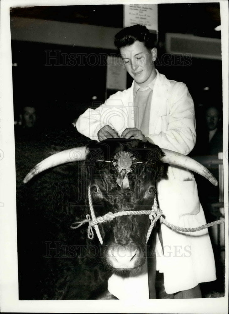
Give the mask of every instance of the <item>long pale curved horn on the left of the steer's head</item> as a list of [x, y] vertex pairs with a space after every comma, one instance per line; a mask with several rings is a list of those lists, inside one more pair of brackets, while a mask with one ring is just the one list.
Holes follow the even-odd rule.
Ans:
[[68, 162], [85, 160], [88, 154], [88, 149], [86, 146], [77, 147], [72, 149], [63, 150], [62, 152], [56, 153], [54, 155], [45, 158], [39, 162], [35, 167], [29, 171], [27, 176], [24, 178], [23, 182], [27, 183], [34, 176], [42, 171], [49, 168], [56, 167], [58, 165], [66, 164]]

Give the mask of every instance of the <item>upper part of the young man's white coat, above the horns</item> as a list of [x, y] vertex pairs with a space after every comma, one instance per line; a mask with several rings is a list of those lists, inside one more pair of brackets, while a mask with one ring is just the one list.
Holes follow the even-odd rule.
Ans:
[[[156, 70], [157, 71], [157, 70]], [[133, 85], [111, 95], [99, 108], [89, 108], [76, 122], [77, 130], [98, 141], [97, 133], [110, 125], [119, 135], [134, 125]], [[195, 112], [187, 86], [158, 73], [153, 89], [149, 133], [144, 134], [161, 148], [189, 154], [196, 140]]]

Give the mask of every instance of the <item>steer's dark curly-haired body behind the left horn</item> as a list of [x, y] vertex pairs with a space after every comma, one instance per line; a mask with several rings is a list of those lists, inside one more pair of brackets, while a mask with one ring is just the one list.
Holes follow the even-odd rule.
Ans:
[[19, 300], [88, 299], [108, 278], [96, 257], [87, 258], [86, 229], [70, 228], [87, 210], [80, 165], [62, 165], [23, 184], [40, 160], [88, 142], [73, 127], [15, 133]]

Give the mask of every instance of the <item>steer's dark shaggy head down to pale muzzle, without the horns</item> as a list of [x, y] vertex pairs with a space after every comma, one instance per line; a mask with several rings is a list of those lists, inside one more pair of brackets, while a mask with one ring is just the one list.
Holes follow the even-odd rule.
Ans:
[[[164, 156], [157, 146], [140, 140], [109, 139], [88, 146], [86, 157], [88, 181], [95, 215], [111, 212], [151, 210], [156, 184], [167, 178]], [[137, 160], [128, 173], [128, 183], [122, 178], [113, 160], [125, 152]], [[146, 234], [151, 220], [148, 215], [120, 216], [99, 225], [103, 238], [103, 259], [114, 269], [138, 268], [145, 263]]]

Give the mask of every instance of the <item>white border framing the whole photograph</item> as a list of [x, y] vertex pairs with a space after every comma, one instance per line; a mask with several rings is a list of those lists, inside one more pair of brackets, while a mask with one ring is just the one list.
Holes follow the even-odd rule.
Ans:
[[[227, 1], [148, 1], [149, 3], [203, 3], [219, 2], [221, 9], [222, 75], [223, 75], [223, 152], [224, 197], [228, 203], [228, 2]], [[10, 7], [89, 5], [89, 4], [145, 4], [146, 1], [93, 1], [90, 0], [2, 0], [1, 1], [1, 292], [2, 312], [64, 312], [64, 313], [227, 313], [228, 271], [224, 298], [147, 300], [18, 300], [16, 184], [13, 124], [12, 58], [10, 36]], [[228, 230], [228, 210], [225, 210], [225, 230]], [[226, 233], [226, 248], [228, 235]], [[228, 249], [226, 249], [228, 269]], [[29, 287], [28, 287], [29, 288]]]

